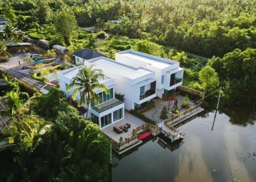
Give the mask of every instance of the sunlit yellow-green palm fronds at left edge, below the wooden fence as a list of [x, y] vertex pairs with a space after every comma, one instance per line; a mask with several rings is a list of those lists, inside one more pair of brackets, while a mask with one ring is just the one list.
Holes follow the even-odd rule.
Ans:
[[14, 145], [20, 145], [25, 148], [20, 150], [34, 149], [42, 137], [46, 137], [53, 123], [47, 122], [37, 115], [33, 115], [33, 112], [29, 113], [29, 107], [33, 101], [33, 97], [30, 97], [25, 103], [19, 100], [19, 96], [13, 90], [6, 94], [6, 110], [2, 110], [0, 115], [7, 116], [8, 130], [4, 131], [4, 135], [9, 136], [2, 141], [6, 144], [0, 146], [0, 150], [7, 149]]

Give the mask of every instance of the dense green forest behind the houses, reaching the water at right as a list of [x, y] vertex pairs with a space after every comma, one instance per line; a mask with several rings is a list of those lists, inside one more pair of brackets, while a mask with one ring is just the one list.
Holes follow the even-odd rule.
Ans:
[[89, 47], [113, 59], [117, 51], [132, 48], [180, 61], [185, 86], [206, 93], [226, 88], [224, 105], [255, 103], [254, 1], [10, 0], [2, 1], [0, 9], [10, 21], [2, 40], [23, 40], [25, 32], [35, 40], [50, 40], [50, 46]]

